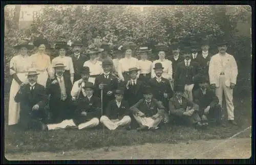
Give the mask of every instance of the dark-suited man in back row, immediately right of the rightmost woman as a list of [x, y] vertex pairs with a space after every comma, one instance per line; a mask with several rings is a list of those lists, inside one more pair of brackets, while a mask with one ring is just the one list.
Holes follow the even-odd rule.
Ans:
[[175, 77], [174, 74], [175, 74], [175, 71], [176, 71], [177, 64], [184, 60], [183, 55], [180, 54], [180, 46], [178, 45], [177, 42], [172, 43], [172, 53], [173, 53], [173, 56], [171, 56], [169, 58], [169, 60], [172, 61], [173, 78], [174, 78]]

